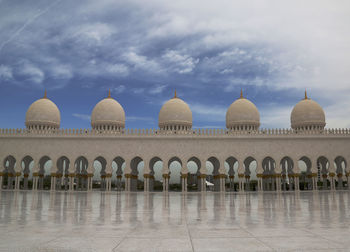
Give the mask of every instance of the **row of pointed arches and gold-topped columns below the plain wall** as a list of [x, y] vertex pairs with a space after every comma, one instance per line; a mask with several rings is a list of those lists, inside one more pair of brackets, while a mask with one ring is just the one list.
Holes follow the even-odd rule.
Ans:
[[[189, 167], [192, 167], [191, 169]], [[179, 174], [180, 183], [172, 184]], [[156, 175], [160, 178], [156, 180]], [[350, 189], [343, 156], [310, 158], [228, 156], [132, 158], [40, 158], [8, 155], [0, 171], [0, 189], [105, 191], [298, 191]], [[142, 181], [143, 180], [143, 181]]]

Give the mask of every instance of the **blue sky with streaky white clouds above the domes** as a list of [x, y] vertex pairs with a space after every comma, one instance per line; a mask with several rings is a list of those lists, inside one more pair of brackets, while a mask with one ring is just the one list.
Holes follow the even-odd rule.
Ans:
[[176, 88], [194, 127], [225, 127], [240, 89], [262, 127], [289, 127], [304, 90], [350, 127], [350, 2], [0, 0], [0, 127], [47, 89], [61, 127], [89, 128], [108, 89], [126, 127], [155, 128]]

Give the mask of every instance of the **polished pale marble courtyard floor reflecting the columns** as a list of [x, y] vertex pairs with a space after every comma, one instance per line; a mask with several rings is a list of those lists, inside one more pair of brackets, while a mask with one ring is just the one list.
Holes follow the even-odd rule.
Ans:
[[0, 191], [0, 251], [350, 251], [350, 191]]

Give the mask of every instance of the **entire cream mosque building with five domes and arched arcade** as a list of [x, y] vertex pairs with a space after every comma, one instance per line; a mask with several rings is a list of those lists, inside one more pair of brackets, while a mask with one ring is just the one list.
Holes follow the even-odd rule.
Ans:
[[350, 189], [350, 129], [325, 128], [323, 109], [306, 92], [290, 118], [290, 129], [260, 129], [258, 109], [241, 92], [225, 129], [193, 129], [191, 109], [175, 92], [158, 129], [125, 129], [124, 109], [109, 92], [92, 111], [91, 129], [60, 129], [45, 92], [28, 108], [25, 129], [0, 129], [0, 190]]

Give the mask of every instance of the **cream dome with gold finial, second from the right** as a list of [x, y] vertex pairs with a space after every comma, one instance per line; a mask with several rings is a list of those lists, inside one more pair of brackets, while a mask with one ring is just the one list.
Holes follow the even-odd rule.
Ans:
[[243, 97], [234, 101], [226, 112], [226, 127], [228, 129], [258, 129], [260, 114], [254, 103]]

